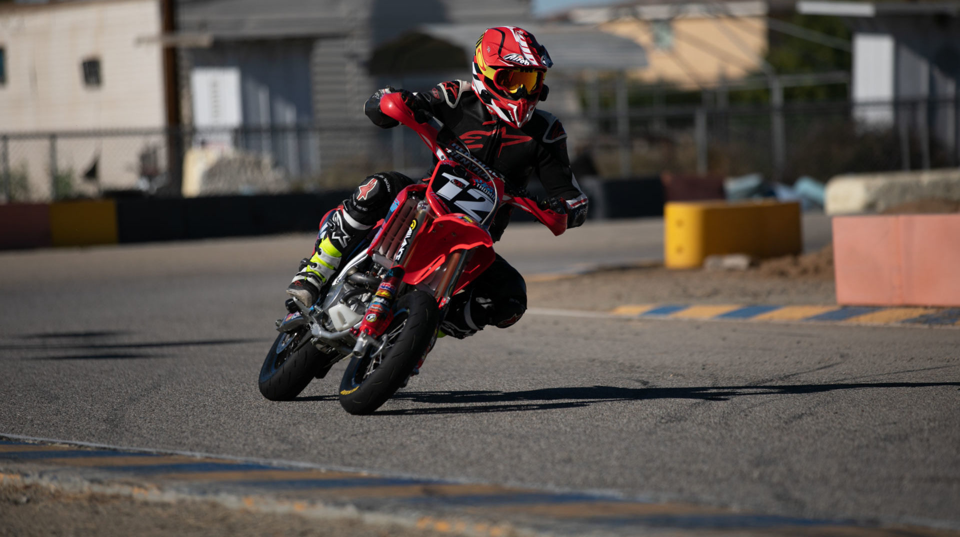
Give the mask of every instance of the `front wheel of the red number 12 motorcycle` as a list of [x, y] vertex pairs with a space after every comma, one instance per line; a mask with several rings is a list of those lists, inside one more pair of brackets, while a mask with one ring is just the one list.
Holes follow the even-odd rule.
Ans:
[[344, 409], [350, 414], [370, 414], [386, 403], [429, 349], [439, 323], [440, 311], [432, 296], [414, 291], [400, 297], [384, 332], [383, 351], [350, 359], [340, 383]]

